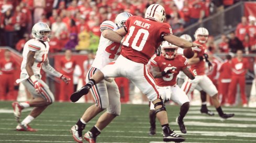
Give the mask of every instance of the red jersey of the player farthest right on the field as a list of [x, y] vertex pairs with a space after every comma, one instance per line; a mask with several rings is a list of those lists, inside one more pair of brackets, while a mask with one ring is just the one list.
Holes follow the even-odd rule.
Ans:
[[[198, 41], [195, 41], [195, 43], [202, 45], [201, 47], [194, 47], [193, 48], [194, 52], [197, 53], [196, 57], [203, 56], [206, 53], [206, 45], [202, 44], [202, 43], [200, 43]], [[202, 60], [202, 61], [199, 61], [196, 64], [192, 64], [191, 65], [191, 70], [192, 71], [196, 70], [197, 75], [204, 75], [205, 74], [205, 61]]]

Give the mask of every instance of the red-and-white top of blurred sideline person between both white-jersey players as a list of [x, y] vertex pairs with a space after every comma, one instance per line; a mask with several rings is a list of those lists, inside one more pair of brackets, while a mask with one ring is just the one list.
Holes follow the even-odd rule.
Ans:
[[63, 57], [60, 61], [60, 66], [61, 66], [61, 70], [63, 72], [63, 74], [65, 75], [73, 75], [74, 69], [75, 69], [75, 60], [74, 59], [70, 59], [70, 60], [66, 60], [65, 57]]

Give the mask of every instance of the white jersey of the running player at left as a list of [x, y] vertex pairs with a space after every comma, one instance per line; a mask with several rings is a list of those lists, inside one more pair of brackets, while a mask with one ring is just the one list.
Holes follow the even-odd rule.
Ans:
[[[44, 44], [45, 45], [44, 45]], [[28, 42], [25, 43], [24, 45], [24, 50], [23, 50], [23, 61], [21, 63], [21, 74], [26, 73], [27, 74], [27, 70], [26, 70], [26, 63], [27, 63], [27, 55], [28, 52], [31, 51], [36, 51], [35, 54], [35, 62], [32, 66], [32, 70], [34, 72], [34, 74], [40, 74], [40, 70], [42, 68], [42, 64], [44, 61], [46, 61], [47, 59], [47, 54], [49, 51], [49, 44], [48, 42], [40, 42], [38, 40], [31, 39]]]

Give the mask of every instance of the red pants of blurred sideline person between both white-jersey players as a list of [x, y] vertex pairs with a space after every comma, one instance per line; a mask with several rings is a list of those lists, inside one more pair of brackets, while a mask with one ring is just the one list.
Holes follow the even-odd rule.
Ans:
[[69, 84], [66, 84], [61, 80], [60, 83], [60, 95], [59, 95], [59, 101], [70, 101], [70, 95], [74, 93], [74, 85], [73, 85], [73, 75], [67, 75], [70, 77]]

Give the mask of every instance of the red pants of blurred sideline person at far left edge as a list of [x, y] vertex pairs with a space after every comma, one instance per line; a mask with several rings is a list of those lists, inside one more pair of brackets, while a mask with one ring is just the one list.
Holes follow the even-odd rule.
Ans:
[[14, 96], [14, 74], [0, 76], [0, 100], [16, 100]]

